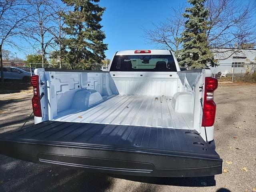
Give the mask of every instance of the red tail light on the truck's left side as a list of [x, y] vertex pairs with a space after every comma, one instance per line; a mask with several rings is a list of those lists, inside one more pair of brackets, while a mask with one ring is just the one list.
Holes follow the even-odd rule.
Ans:
[[39, 94], [39, 76], [33, 75], [30, 79], [31, 85], [33, 86], [34, 96], [32, 98], [32, 107], [34, 116], [42, 117], [41, 106], [40, 106], [40, 94]]

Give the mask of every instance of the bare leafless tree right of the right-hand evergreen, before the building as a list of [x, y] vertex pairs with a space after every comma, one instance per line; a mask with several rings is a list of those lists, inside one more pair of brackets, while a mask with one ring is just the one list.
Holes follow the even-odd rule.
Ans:
[[[256, 3], [243, 5], [235, 0], [207, 0], [209, 10], [208, 46], [225, 60], [256, 43]], [[230, 49], [218, 49], [218, 48]]]

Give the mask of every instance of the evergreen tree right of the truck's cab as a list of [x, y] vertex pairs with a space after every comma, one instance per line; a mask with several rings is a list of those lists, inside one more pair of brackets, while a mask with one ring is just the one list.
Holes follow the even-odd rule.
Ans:
[[179, 64], [190, 68], [205, 68], [214, 65], [214, 56], [207, 47], [208, 10], [205, 0], [188, 0], [192, 7], [186, 8], [183, 16], [187, 18], [185, 31], [182, 32], [182, 49], [179, 52]]

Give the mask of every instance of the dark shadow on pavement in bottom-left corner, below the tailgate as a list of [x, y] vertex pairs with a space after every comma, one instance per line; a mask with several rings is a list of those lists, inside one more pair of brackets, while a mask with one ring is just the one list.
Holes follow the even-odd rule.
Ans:
[[45, 166], [0, 155], [0, 191], [105, 191], [112, 178], [57, 166]]

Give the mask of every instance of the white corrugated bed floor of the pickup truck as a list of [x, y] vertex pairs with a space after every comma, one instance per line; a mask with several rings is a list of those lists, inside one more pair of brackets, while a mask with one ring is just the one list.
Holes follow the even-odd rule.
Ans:
[[179, 129], [193, 126], [193, 115], [175, 113], [168, 96], [117, 95], [86, 111], [70, 109], [58, 115], [55, 121]]

